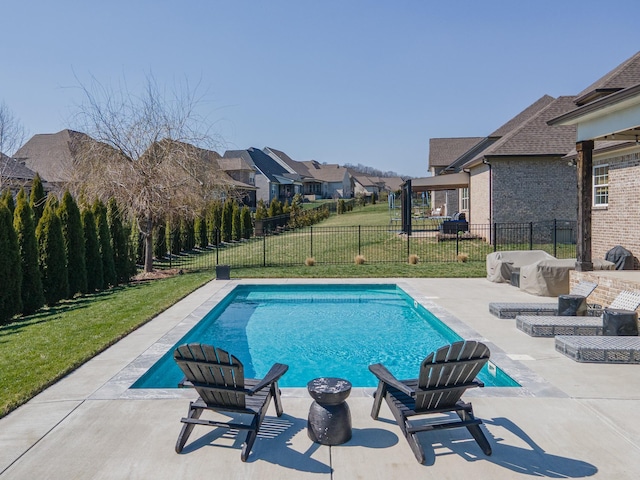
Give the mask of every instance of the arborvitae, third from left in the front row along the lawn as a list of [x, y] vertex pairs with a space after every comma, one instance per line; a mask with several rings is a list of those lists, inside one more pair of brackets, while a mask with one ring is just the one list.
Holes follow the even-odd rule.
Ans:
[[56, 213], [57, 204], [56, 198], [49, 196], [36, 228], [42, 290], [47, 305], [55, 305], [69, 295], [67, 253], [62, 224]]

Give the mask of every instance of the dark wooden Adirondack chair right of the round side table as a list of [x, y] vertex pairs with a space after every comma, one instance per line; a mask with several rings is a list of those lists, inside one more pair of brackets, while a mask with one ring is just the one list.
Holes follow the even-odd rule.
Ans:
[[[371, 416], [378, 418], [382, 400], [409, 442], [418, 462], [424, 462], [424, 451], [417, 434], [430, 430], [466, 427], [486, 455], [491, 446], [480, 429], [482, 420], [473, 416], [470, 403], [460, 400], [468, 388], [483, 387], [476, 375], [489, 360], [486, 345], [475, 342], [456, 342], [429, 354], [420, 365], [419, 377], [397, 380], [382, 364], [370, 365], [369, 370], [378, 377]], [[415, 423], [410, 417], [455, 412], [459, 419], [438, 418], [430, 423]]]

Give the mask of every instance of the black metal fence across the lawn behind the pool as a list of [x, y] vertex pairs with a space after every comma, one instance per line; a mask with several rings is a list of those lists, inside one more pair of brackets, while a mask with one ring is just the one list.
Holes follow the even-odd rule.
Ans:
[[[399, 232], [395, 226], [304, 227], [271, 230], [248, 240], [208, 245], [156, 259], [159, 268], [207, 269], [232, 267], [407, 263], [412, 255], [422, 262], [484, 262], [497, 250], [544, 250], [557, 258], [575, 258], [576, 224], [551, 220], [532, 223], [466, 224], [464, 231], [441, 224]], [[219, 235], [209, 238], [220, 238]]]

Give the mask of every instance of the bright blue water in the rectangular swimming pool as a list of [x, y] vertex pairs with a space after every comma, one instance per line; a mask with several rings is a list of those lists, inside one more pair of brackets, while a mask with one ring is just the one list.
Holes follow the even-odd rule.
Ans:
[[[396, 285], [242, 285], [176, 346], [199, 342], [227, 350], [244, 364], [247, 378], [285, 363], [282, 387], [304, 387], [316, 377], [373, 387], [370, 364], [383, 363], [397, 378], [415, 378], [426, 355], [458, 340]], [[173, 350], [132, 388], [175, 388], [183, 374]], [[493, 364], [480, 379], [487, 386], [518, 386]]]

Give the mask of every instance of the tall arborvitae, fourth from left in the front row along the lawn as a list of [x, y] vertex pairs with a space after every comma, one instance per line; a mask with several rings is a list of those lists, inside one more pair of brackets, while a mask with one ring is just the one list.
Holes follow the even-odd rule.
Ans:
[[76, 293], [87, 293], [87, 267], [84, 263], [84, 231], [80, 209], [69, 190], [62, 195], [58, 216], [62, 223], [64, 249], [67, 254], [69, 298], [72, 298]]

